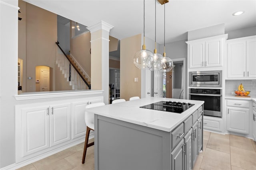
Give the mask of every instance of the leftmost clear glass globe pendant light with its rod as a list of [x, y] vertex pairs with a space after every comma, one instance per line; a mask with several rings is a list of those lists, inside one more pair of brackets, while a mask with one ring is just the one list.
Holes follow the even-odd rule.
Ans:
[[143, 26], [144, 26], [144, 37], [142, 50], [137, 51], [133, 58], [133, 63], [138, 69], [150, 69], [153, 66], [153, 53], [149, 50], [146, 50], [145, 45], [145, 0], [144, 0], [144, 16], [143, 16]]

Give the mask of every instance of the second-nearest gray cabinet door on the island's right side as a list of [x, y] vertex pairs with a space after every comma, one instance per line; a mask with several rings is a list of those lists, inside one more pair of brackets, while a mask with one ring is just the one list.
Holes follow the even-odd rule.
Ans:
[[184, 160], [184, 170], [190, 170], [190, 162], [191, 162], [191, 132], [184, 136], [185, 142], [185, 160]]

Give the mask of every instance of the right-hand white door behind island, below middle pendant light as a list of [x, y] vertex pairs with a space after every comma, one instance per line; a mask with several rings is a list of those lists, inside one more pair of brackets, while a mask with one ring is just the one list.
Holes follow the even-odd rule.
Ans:
[[163, 97], [163, 72], [154, 71], [154, 97]]

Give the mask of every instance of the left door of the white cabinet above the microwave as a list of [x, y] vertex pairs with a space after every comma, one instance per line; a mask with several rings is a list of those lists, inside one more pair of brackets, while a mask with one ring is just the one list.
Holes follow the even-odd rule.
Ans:
[[204, 67], [204, 42], [188, 44], [189, 68]]

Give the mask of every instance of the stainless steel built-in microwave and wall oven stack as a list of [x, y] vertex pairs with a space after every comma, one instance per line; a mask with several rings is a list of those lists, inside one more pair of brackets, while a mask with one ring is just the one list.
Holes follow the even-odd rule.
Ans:
[[[222, 70], [189, 72], [190, 100], [204, 101], [204, 115], [222, 117]], [[207, 87], [207, 88], [200, 88]], [[211, 88], [213, 87], [213, 88]]]

